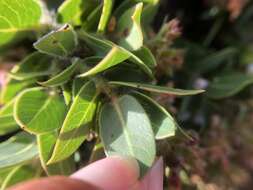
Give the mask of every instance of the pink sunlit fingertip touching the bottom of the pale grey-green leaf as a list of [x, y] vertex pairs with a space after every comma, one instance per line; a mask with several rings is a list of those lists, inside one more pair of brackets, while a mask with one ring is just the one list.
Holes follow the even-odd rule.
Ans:
[[112, 156], [88, 165], [71, 177], [103, 189], [125, 190], [136, 183], [139, 175], [139, 165], [135, 159]]

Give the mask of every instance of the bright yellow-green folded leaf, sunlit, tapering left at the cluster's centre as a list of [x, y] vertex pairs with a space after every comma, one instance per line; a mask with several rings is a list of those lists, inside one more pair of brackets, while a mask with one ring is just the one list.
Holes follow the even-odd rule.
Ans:
[[79, 77], [87, 77], [100, 73], [110, 67], [122, 63], [124, 60], [128, 59], [129, 56], [130, 55], [127, 52], [117, 46], [114, 46], [102, 61], [100, 61], [95, 67], [93, 67], [89, 71], [80, 74]]

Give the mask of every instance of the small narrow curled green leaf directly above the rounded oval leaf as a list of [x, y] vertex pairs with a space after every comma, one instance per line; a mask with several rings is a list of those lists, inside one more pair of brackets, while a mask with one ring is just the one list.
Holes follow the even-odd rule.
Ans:
[[46, 87], [60, 86], [70, 80], [71, 76], [76, 71], [78, 66], [79, 66], [79, 59], [75, 59], [67, 69], [65, 69], [61, 73], [57, 74], [56, 76], [45, 82], [39, 82], [39, 84]]

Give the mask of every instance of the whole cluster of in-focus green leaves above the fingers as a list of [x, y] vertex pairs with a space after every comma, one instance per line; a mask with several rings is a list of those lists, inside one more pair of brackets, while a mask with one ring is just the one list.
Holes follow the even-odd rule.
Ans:
[[91, 135], [92, 157], [101, 149], [132, 156], [145, 174], [155, 140], [177, 128], [151, 94], [203, 92], [154, 84], [156, 59], [143, 42], [157, 8], [156, 0], [66, 0], [50, 18], [43, 2], [0, 0], [2, 50], [39, 38], [1, 89], [0, 135], [12, 135], [0, 144], [2, 189], [45, 173], [70, 174]]

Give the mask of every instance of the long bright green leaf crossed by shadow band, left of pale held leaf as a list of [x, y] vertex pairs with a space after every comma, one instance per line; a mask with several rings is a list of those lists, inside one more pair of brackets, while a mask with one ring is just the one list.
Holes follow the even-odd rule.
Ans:
[[85, 140], [96, 111], [97, 97], [98, 92], [93, 82], [83, 85], [67, 113], [53, 154], [47, 164], [68, 158]]

